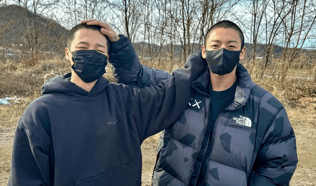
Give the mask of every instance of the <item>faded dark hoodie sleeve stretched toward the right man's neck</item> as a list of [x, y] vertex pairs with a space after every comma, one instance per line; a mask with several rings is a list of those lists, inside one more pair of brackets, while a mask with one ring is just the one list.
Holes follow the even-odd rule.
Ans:
[[170, 79], [154, 87], [134, 90], [142, 140], [165, 129], [181, 115], [195, 93], [192, 82], [205, 70], [206, 63], [192, 54], [185, 68], [173, 71]]

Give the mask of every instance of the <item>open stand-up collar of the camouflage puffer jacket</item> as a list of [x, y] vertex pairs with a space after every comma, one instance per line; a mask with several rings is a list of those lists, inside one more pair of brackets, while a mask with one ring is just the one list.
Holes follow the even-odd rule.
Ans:
[[[248, 101], [251, 89], [256, 85], [251, 81], [251, 77], [246, 68], [244, 68], [240, 63], [237, 64], [236, 71], [239, 78], [235, 92], [235, 98], [233, 103], [226, 110], [236, 110], [243, 106]], [[209, 68], [207, 67], [206, 70], [197, 78], [197, 80], [192, 83], [192, 87], [197, 92], [209, 98], [209, 83], [210, 74]]]

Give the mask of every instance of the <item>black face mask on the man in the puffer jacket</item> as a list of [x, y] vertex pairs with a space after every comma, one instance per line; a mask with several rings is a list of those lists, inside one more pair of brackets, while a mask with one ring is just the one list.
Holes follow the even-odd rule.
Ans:
[[224, 75], [231, 73], [239, 62], [241, 50], [232, 51], [225, 48], [205, 50], [206, 63], [214, 74]]

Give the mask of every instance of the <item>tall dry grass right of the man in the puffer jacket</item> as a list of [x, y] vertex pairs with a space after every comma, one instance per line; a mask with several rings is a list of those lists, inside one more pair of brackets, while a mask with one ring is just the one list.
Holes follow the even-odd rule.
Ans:
[[267, 68], [258, 61], [243, 63], [255, 83], [275, 95], [284, 106], [292, 108], [305, 108], [304, 98], [316, 98], [315, 64], [312, 68], [296, 65], [287, 69], [289, 60], [273, 61]]

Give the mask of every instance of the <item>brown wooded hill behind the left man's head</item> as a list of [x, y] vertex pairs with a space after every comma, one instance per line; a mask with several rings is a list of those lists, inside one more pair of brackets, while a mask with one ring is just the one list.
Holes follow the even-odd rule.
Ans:
[[30, 53], [31, 49], [37, 49], [44, 53], [63, 53], [69, 31], [56, 21], [18, 5], [1, 6], [0, 15], [2, 50]]

